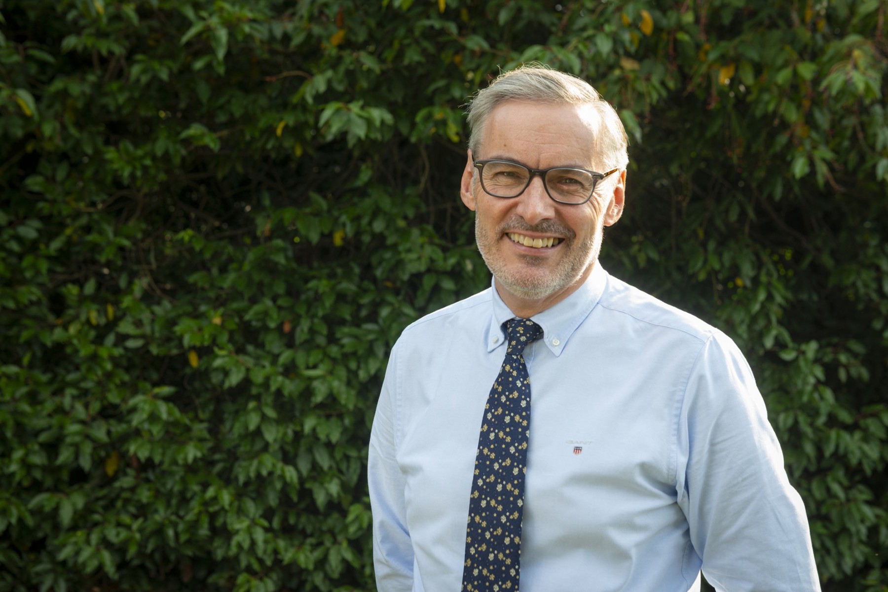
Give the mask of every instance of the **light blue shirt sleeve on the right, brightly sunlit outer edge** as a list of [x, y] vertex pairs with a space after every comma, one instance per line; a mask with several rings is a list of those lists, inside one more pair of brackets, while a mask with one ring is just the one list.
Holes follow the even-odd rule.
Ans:
[[821, 589], [805, 507], [749, 365], [725, 335], [710, 336], [689, 375], [677, 477], [691, 542], [719, 592]]

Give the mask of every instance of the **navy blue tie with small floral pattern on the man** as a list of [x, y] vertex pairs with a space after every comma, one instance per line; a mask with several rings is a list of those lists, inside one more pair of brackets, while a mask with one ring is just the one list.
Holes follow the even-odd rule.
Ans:
[[524, 348], [543, 334], [529, 319], [503, 323], [503, 367], [484, 407], [465, 532], [464, 592], [518, 592], [530, 377]]

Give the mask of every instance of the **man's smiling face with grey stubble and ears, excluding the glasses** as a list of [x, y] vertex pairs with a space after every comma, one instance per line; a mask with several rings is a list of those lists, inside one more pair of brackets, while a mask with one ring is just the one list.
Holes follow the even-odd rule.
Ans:
[[625, 171], [599, 181], [591, 200], [578, 206], [551, 200], [539, 176], [519, 197], [488, 195], [472, 159], [519, 162], [533, 169], [564, 166], [604, 172], [603, 159], [593, 148], [596, 123], [591, 107], [509, 101], [489, 115], [480, 154], [469, 152], [461, 195], [476, 212], [475, 239], [481, 257], [513, 312], [512, 304], [544, 310], [589, 276], [598, 259], [602, 227], [614, 224], [622, 214]]

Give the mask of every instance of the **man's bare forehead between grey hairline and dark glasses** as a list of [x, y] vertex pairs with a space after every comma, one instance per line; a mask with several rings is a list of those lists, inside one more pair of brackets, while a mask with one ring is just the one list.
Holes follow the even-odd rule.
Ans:
[[596, 164], [598, 114], [589, 105], [506, 101], [488, 116], [476, 158], [521, 162], [535, 169]]

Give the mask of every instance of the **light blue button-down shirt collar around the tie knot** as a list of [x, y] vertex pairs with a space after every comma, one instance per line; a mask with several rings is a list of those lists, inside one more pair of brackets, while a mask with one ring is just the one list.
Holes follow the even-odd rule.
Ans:
[[[539, 312], [530, 319], [543, 328], [543, 343], [556, 357], [567, 347], [567, 342], [574, 335], [576, 328], [598, 304], [607, 284], [607, 272], [596, 261], [589, 278], [580, 288], [564, 300]], [[488, 351], [494, 351], [505, 343], [503, 323], [514, 319], [515, 315], [496, 293], [496, 284], [490, 280], [493, 311], [490, 318], [487, 340]]]

